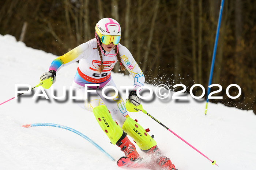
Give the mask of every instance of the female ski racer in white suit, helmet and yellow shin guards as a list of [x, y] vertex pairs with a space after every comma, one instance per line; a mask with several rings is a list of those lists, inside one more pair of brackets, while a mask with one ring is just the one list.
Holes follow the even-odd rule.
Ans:
[[[136, 90], [143, 86], [145, 78], [131, 52], [119, 43], [120, 39], [121, 27], [119, 23], [111, 18], [103, 18], [95, 26], [94, 39], [54, 59], [49, 67], [49, 72], [45, 72], [40, 78], [45, 80], [53, 77], [54, 83], [56, 72], [61, 67], [79, 60], [72, 84], [73, 89], [76, 95], [83, 97], [85, 93], [84, 84], [91, 84], [88, 90], [96, 90], [95, 95], [86, 99], [84, 103], [80, 104], [80, 107], [94, 113], [99, 126], [101, 126], [111, 143], [120, 147], [129, 159], [133, 161], [140, 159], [141, 157], [135, 146], [127, 137], [128, 134], [142, 151], [153, 155], [153, 161], [159, 166], [175, 170], [175, 166], [170, 159], [161, 154], [155, 140], [147, 134], [139, 123], [129, 117], [123, 99], [117, 95], [116, 98], [109, 101], [102, 96], [101, 92], [104, 87], [116, 87], [110, 73], [118, 61], [121, 70], [126, 68], [134, 78], [134, 89], [129, 94], [130, 102], [135, 106], [140, 104]], [[99, 84], [99, 86], [94, 86], [95, 84]]]

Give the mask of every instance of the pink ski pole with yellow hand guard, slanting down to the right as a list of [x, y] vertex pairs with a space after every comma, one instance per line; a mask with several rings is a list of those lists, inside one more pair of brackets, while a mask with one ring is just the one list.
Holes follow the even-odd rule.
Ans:
[[[172, 134], [174, 134], [176, 137], [180, 138], [183, 142], [187, 143], [190, 147], [192, 147], [193, 149], [195, 149], [198, 153], [200, 153], [201, 155], [203, 155], [205, 158], [207, 158], [209, 161], [211, 161], [212, 165], [217, 165], [214, 161], [212, 161], [211, 159], [209, 159], [206, 155], [204, 155], [202, 152], [200, 152], [199, 150], [197, 150], [195, 147], [193, 147], [191, 144], [189, 144], [187, 141], [185, 141], [184, 139], [182, 139], [179, 135], [177, 135], [176, 133], [174, 133], [172, 130], [170, 130], [167, 126], [165, 126], [163, 123], [161, 123], [159, 120], [157, 120], [156, 118], [154, 118], [153, 116], [151, 116], [150, 114], [147, 113], [146, 110], [144, 110], [142, 108], [142, 105], [140, 104], [139, 106], [134, 106], [129, 100], [126, 100], [126, 104], [125, 107], [127, 108], [128, 111], [130, 112], [138, 112], [138, 111], [142, 111], [144, 114], [150, 116], [152, 119], [154, 119], [157, 123], [161, 124], [165, 129], [169, 130]], [[219, 166], [219, 165], [217, 165]]]

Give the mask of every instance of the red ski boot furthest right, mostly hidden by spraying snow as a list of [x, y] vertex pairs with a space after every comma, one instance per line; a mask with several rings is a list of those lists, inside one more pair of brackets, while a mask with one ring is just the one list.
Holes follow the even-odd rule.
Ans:
[[160, 149], [157, 145], [151, 147], [148, 150], [142, 150], [143, 152], [151, 155], [153, 161], [157, 163], [160, 167], [166, 170], [177, 170], [175, 166], [172, 164], [171, 160], [166, 156], [162, 155]]

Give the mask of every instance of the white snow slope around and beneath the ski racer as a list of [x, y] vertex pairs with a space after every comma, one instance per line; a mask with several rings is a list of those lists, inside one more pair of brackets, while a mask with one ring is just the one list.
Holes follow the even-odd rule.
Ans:
[[[39, 76], [57, 57], [28, 48], [10, 35], [0, 35], [0, 51], [0, 103], [14, 97], [15, 84], [37, 84]], [[58, 96], [62, 94], [63, 86], [71, 86], [76, 68], [77, 63], [74, 63], [57, 73], [54, 88]], [[129, 76], [112, 73], [112, 78], [117, 87], [132, 86], [133, 80]], [[46, 92], [50, 94], [50, 89]], [[50, 99], [38, 102], [32, 96], [21, 96], [20, 102], [13, 99], [0, 106], [0, 169], [120, 169], [116, 162], [75, 133], [56, 127], [22, 127], [29, 123], [68, 126], [91, 138], [115, 159], [123, 156], [117, 146], [110, 144], [92, 112], [82, 110], [71, 100], [58, 103], [48, 96]], [[125, 98], [124, 93], [122, 96]], [[159, 148], [178, 170], [256, 169], [256, 116], [252, 111], [209, 103], [205, 116], [204, 100], [195, 100], [188, 95], [188, 99], [179, 101], [155, 98], [143, 102], [143, 108], [208, 158], [216, 160], [219, 167], [211, 165], [142, 112], [129, 114], [145, 129], [150, 128], [149, 134], [154, 134]], [[138, 152], [143, 155], [140, 150]]]

